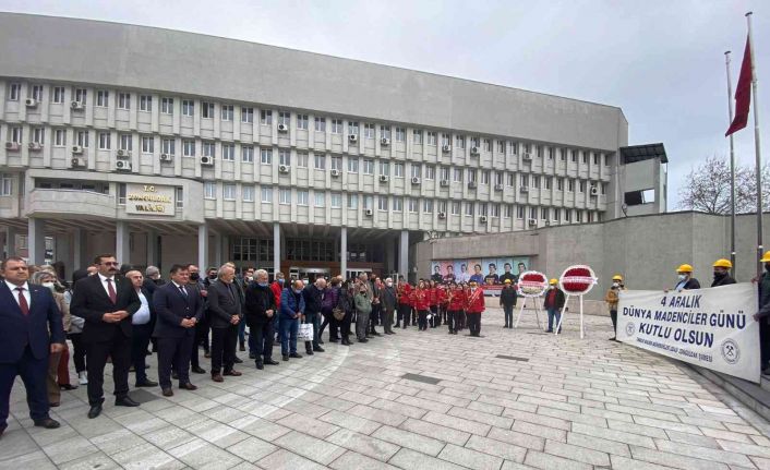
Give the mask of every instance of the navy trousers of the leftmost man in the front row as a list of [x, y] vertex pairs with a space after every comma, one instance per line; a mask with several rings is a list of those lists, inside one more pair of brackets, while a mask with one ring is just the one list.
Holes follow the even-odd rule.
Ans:
[[29, 418], [44, 420], [48, 418], [48, 391], [46, 377], [48, 376], [48, 355], [35, 359], [27, 345], [17, 362], [0, 364], [0, 429], [8, 424], [11, 388], [16, 375], [22, 377], [26, 388]]

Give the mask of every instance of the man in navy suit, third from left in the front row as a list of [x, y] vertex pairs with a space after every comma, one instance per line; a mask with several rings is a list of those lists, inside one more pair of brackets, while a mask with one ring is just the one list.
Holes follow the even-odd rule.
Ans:
[[190, 289], [187, 266], [171, 266], [171, 282], [155, 289], [153, 306], [157, 315], [153, 336], [158, 340], [158, 381], [165, 397], [171, 390], [171, 365], [179, 376], [179, 388], [195, 390], [190, 383], [190, 354], [195, 339], [195, 325], [203, 318], [203, 299]]

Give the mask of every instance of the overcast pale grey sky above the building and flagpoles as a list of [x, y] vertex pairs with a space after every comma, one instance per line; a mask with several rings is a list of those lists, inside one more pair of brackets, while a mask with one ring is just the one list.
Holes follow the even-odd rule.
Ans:
[[[724, 51], [735, 86], [753, 10], [770, 158], [770, 1], [0, 0], [0, 10], [205, 33], [618, 106], [630, 144], [665, 144], [670, 209], [699, 160], [729, 155]], [[753, 122], [735, 138], [743, 164], [754, 165]]]

